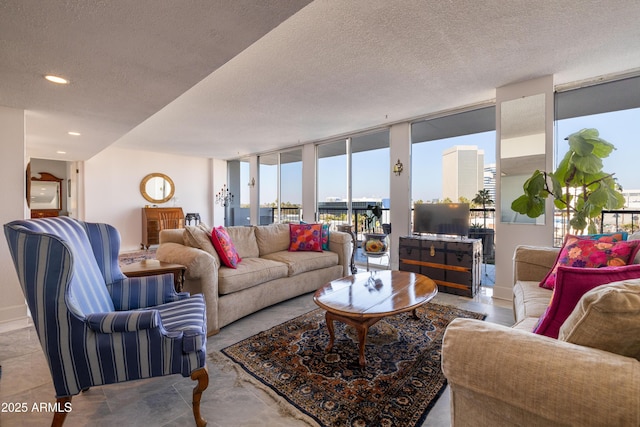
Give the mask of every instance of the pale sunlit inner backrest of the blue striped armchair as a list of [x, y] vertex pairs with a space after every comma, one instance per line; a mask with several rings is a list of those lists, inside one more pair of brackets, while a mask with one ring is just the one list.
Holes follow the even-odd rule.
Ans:
[[[14, 221], [9, 225], [57, 236], [67, 245], [73, 269], [68, 300], [72, 311], [79, 309], [80, 313], [76, 312], [77, 315], [87, 315], [114, 310], [83, 223], [69, 217], [56, 217]], [[25, 258], [37, 259], [40, 254], [34, 248], [34, 253], [25, 255]]]

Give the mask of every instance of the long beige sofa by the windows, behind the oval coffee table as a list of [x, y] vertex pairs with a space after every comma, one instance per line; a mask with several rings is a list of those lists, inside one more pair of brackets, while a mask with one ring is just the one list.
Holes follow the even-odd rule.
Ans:
[[204, 294], [208, 334], [248, 314], [349, 275], [351, 236], [331, 231], [329, 250], [289, 252], [289, 225], [227, 227], [242, 261], [221, 265], [204, 225], [163, 230], [156, 258], [187, 267], [184, 291]]

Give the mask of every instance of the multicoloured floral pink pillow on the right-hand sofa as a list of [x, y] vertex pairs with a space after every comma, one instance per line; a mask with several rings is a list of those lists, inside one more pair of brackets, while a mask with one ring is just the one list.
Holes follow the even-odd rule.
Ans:
[[556, 272], [561, 265], [582, 268], [627, 265], [633, 261], [640, 246], [637, 240], [621, 241], [623, 238], [623, 233], [585, 236], [567, 234], [555, 265], [542, 279], [540, 287], [553, 289]]

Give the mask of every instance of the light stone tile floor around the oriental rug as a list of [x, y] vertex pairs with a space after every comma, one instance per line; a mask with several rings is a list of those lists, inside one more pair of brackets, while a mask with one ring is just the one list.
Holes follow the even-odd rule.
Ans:
[[[488, 281], [485, 281], [487, 283]], [[494, 300], [492, 289], [482, 287], [475, 298], [439, 293], [436, 302], [487, 314], [486, 321], [511, 325], [511, 303]], [[224, 327], [209, 338], [208, 351], [220, 350], [241, 339], [315, 309], [311, 294], [261, 310]], [[13, 325], [16, 326], [16, 325]], [[32, 326], [0, 331], [0, 426], [41, 426], [52, 414], [33, 405], [55, 402], [53, 385]], [[233, 370], [210, 362], [209, 388], [202, 398], [202, 413], [213, 427], [300, 426], [286, 416], [264, 391], [237, 379]], [[185, 426], [194, 425], [190, 407], [194, 382], [172, 375], [94, 387], [75, 396], [65, 426]], [[25, 412], [15, 405], [25, 404]], [[13, 405], [13, 406], [12, 406]], [[14, 409], [11, 411], [10, 409]], [[424, 426], [449, 426], [449, 393], [446, 390], [431, 410]]]

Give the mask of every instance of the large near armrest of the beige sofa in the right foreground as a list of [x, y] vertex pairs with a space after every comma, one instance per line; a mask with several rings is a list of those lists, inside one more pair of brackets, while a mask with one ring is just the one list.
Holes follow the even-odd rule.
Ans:
[[472, 319], [448, 326], [452, 425], [640, 425], [640, 362]]

